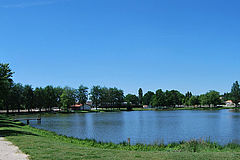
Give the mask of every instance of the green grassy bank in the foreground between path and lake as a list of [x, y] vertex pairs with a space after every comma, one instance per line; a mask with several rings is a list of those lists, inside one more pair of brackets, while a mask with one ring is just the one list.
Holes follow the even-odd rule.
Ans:
[[168, 145], [128, 145], [80, 140], [36, 129], [0, 115], [0, 135], [31, 159], [240, 159], [240, 145], [204, 140]]

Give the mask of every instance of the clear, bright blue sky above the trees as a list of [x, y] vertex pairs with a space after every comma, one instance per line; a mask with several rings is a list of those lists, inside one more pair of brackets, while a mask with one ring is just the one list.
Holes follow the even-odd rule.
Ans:
[[239, 0], [0, 0], [0, 62], [36, 86], [229, 92]]

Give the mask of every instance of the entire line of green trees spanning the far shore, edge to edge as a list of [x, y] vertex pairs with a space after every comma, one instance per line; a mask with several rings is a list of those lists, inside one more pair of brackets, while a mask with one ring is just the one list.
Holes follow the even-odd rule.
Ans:
[[76, 103], [86, 104], [92, 101], [92, 106], [98, 108], [121, 108], [141, 105], [153, 107], [176, 107], [176, 106], [217, 106], [226, 100], [232, 100], [238, 105], [240, 102], [240, 87], [238, 81], [233, 83], [230, 93], [220, 95], [219, 92], [211, 90], [206, 94], [192, 95], [191, 92], [182, 94], [177, 90], [162, 91], [158, 89], [155, 93], [148, 91], [143, 95], [143, 90], [138, 90], [138, 95], [127, 94], [116, 87], [107, 88], [93, 86], [90, 89], [80, 85], [77, 89], [71, 87], [46, 87], [33, 88], [31, 85], [22, 85], [13, 82], [14, 72], [9, 64], [0, 63], [0, 110], [32, 109], [51, 111], [53, 107], [69, 110]]

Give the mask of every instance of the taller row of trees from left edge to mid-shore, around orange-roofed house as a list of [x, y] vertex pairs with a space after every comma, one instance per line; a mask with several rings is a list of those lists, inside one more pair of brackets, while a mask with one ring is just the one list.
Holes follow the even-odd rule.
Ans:
[[14, 72], [9, 64], [0, 64], [0, 110], [33, 109], [39, 111], [51, 111], [53, 107], [68, 111], [70, 106], [82, 104], [92, 100], [93, 106], [97, 108], [121, 107], [124, 101], [124, 92], [116, 87], [107, 88], [93, 86], [88, 93], [88, 87], [80, 85], [77, 89], [71, 87], [46, 87], [33, 88], [31, 85], [14, 83], [12, 80]]

